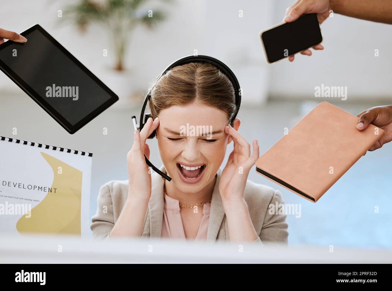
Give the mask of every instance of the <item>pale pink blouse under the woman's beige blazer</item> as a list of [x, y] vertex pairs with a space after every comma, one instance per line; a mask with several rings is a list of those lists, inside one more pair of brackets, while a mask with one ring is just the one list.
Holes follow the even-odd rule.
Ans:
[[[169, 197], [166, 193], [163, 194], [163, 197], [164, 205], [161, 237], [186, 240], [180, 214], [180, 202], [174, 198]], [[211, 203], [203, 205], [204, 215], [201, 219], [199, 230], [195, 240], [207, 239], [208, 221], [210, 219], [210, 208]]]

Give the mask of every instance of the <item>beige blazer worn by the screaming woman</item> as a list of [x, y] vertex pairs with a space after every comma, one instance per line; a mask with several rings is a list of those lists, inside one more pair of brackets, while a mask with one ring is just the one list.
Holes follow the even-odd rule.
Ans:
[[[162, 165], [160, 170], [167, 174]], [[223, 210], [222, 199], [219, 193], [219, 181], [222, 170], [219, 168], [217, 179], [212, 192], [210, 218], [207, 230], [207, 241], [229, 241], [229, 228]], [[153, 172], [151, 176], [151, 197], [144, 218], [142, 237], [161, 237], [163, 219], [163, 177]], [[93, 239], [109, 239], [114, 224], [127, 201], [128, 180], [110, 181], [100, 188], [98, 194], [98, 208], [91, 217], [91, 230]], [[278, 190], [269, 186], [256, 184], [247, 180], [244, 199], [248, 205], [250, 219], [258, 239], [253, 243], [284, 244], [287, 245], [286, 215], [269, 214], [269, 205], [276, 202], [283, 204], [284, 200]]]

